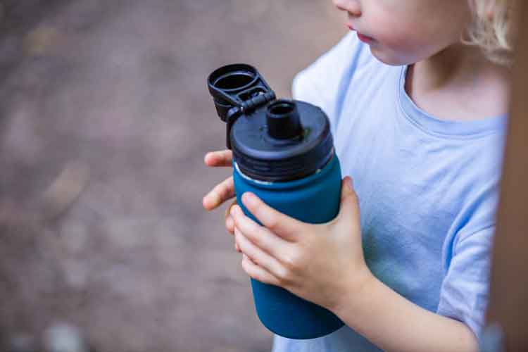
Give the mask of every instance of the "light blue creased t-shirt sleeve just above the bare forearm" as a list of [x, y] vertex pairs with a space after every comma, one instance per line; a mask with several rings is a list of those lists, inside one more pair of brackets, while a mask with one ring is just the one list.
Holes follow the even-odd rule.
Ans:
[[464, 322], [474, 334], [484, 325], [495, 226], [460, 239], [442, 283], [437, 313]]

